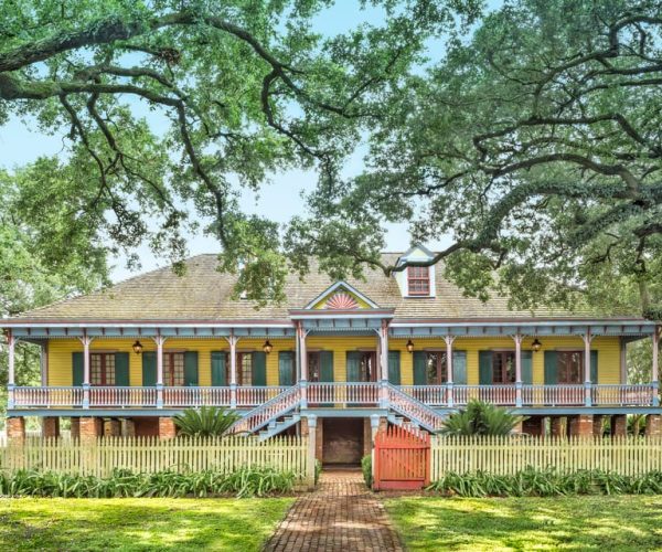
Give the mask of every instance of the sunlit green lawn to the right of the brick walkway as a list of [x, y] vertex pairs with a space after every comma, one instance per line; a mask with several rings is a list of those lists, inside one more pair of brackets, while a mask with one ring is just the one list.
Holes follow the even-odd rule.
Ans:
[[395, 498], [414, 550], [662, 550], [662, 497]]

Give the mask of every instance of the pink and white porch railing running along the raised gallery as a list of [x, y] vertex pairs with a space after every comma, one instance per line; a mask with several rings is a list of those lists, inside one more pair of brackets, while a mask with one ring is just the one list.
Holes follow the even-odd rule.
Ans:
[[[290, 386], [236, 388], [237, 407], [255, 407], [280, 395]], [[418, 402], [434, 407], [463, 406], [470, 400], [515, 406], [515, 385], [402, 385], [397, 388]], [[651, 406], [656, 404], [656, 390], [650, 384], [598, 384], [590, 386], [592, 406]], [[31, 388], [20, 386], [10, 391], [13, 408], [82, 408], [85, 397], [90, 408], [158, 407], [157, 388], [90, 386], [84, 388]], [[163, 388], [163, 407], [231, 406], [229, 386]], [[308, 383], [307, 401], [310, 406], [349, 405], [370, 406], [380, 404], [381, 384], [374, 382]], [[450, 402], [452, 400], [452, 403]], [[584, 406], [584, 384], [521, 385], [522, 406]]]

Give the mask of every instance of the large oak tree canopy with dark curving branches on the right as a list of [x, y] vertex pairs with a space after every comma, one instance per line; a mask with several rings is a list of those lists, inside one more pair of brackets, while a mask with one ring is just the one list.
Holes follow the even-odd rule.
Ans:
[[659, 13], [640, 0], [485, 13], [408, 77], [365, 173], [320, 187], [297, 250], [374, 263], [374, 233], [352, 230], [407, 224], [413, 241], [450, 235], [437, 258], [467, 295], [659, 319]]

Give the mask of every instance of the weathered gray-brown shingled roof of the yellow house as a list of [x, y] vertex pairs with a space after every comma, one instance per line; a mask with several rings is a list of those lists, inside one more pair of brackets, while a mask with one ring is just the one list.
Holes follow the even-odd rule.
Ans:
[[[385, 263], [393, 264], [398, 253], [385, 253]], [[245, 320], [287, 319], [288, 309], [303, 308], [333, 282], [316, 269], [305, 282], [292, 274], [286, 284], [285, 305], [256, 309], [248, 300], [229, 298], [235, 276], [216, 270], [216, 255], [197, 255], [186, 261], [186, 273], [177, 276], [170, 267], [152, 270], [121, 282], [110, 288], [86, 296], [62, 300], [22, 314], [18, 319], [29, 320]], [[395, 279], [381, 270], [367, 269], [366, 282], [349, 279], [348, 283], [370, 297], [382, 308], [395, 309], [395, 318], [567, 318], [586, 317], [587, 312], [538, 310], [509, 310], [505, 298], [488, 302], [467, 298], [457, 286], [442, 276], [442, 266], [436, 270], [436, 297], [403, 298]]]

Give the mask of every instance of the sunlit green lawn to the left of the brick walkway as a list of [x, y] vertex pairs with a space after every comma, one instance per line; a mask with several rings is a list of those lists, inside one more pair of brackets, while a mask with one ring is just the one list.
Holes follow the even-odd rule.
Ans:
[[257, 551], [292, 501], [0, 499], [0, 549]]

